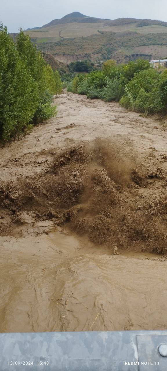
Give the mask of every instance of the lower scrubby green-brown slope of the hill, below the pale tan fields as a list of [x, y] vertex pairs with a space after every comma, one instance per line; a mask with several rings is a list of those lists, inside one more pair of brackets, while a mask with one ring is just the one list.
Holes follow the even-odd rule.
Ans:
[[[167, 34], [136, 32], [105, 32], [99, 35], [64, 39], [56, 43], [37, 44], [40, 50], [49, 51], [56, 59], [69, 63], [69, 59], [102, 60], [116, 59], [118, 62], [142, 57], [147, 59], [167, 55]], [[68, 59], [68, 60], [67, 60]]]

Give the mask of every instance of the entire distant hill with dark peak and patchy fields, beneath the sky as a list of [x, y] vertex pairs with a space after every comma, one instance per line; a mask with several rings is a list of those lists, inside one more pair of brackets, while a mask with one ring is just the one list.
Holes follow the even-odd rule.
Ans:
[[159, 20], [108, 20], [74, 12], [26, 33], [39, 50], [66, 64], [85, 58], [127, 62], [167, 56], [167, 22]]

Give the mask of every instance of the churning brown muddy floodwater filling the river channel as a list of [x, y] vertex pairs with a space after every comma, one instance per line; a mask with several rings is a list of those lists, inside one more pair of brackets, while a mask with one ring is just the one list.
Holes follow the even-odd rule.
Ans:
[[166, 329], [165, 127], [58, 103], [0, 150], [0, 331]]

